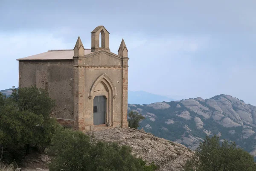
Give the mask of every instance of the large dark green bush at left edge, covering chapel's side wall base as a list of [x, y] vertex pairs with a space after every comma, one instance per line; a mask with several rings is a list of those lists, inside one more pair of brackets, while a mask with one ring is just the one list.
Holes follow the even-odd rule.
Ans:
[[9, 98], [0, 94], [0, 146], [3, 162], [17, 162], [31, 147], [44, 150], [59, 126], [50, 118], [54, 101], [44, 89], [13, 87]]

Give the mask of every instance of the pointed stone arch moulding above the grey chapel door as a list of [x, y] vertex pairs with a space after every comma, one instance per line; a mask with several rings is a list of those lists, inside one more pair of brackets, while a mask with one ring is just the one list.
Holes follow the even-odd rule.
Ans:
[[93, 82], [92, 87], [90, 88], [90, 92], [89, 92], [89, 97], [88, 98], [92, 99], [94, 90], [95, 90], [96, 86], [101, 81], [105, 82], [105, 84], [108, 84], [108, 86], [110, 88], [111, 96], [113, 97], [113, 99], [115, 99], [116, 98], [116, 87], [114, 86], [113, 82], [111, 81], [111, 79], [108, 77], [107, 74], [99, 75], [99, 77], [96, 78], [96, 80]]

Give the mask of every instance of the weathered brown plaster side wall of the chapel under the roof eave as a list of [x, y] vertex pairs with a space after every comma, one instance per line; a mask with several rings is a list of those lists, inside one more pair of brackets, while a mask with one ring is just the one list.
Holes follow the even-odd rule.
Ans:
[[73, 123], [73, 60], [19, 61], [19, 87], [45, 88], [56, 106], [52, 116]]

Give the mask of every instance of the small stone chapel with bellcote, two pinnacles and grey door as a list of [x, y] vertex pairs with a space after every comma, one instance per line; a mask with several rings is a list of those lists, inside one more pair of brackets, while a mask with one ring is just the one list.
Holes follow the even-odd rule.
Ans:
[[109, 49], [108, 30], [97, 26], [91, 48], [78, 37], [74, 49], [17, 59], [19, 87], [48, 90], [56, 101], [52, 117], [62, 125], [84, 131], [128, 127], [128, 59], [125, 41], [116, 55]]

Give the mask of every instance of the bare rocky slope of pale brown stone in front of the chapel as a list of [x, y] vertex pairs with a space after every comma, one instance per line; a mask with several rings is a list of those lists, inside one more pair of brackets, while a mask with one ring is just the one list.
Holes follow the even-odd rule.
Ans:
[[87, 134], [96, 141], [130, 146], [132, 154], [142, 157], [148, 163], [154, 162], [160, 167], [159, 171], [181, 171], [186, 160], [193, 156], [193, 152], [184, 145], [158, 138], [144, 130], [110, 128]]

